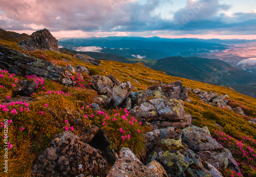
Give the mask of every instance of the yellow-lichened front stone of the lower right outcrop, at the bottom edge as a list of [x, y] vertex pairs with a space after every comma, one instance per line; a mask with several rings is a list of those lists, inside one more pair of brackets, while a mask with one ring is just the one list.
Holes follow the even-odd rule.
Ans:
[[200, 157], [184, 147], [181, 139], [162, 139], [148, 156], [148, 161], [158, 161], [169, 176], [213, 176], [207, 171]]

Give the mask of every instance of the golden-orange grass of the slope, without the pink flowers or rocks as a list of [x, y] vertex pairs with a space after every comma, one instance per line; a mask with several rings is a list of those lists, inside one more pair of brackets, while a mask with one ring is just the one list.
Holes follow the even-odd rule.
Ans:
[[[5, 45], [10, 48], [18, 49], [15, 46], [15, 43], [7, 42], [4, 40], [0, 40], [0, 45]], [[225, 147], [229, 148], [233, 152], [233, 156], [240, 163], [240, 167], [243, 168], [243, 174], [245, 176], [247, 176], [248, 173], [256, 175], [255, 170], [252, 167], [250, 167], [256, 167], [256, 165], [247, 162], [248, 158], [254, 157], [252, 156], [252, 154], [243, 156], [243, 154], [240, 153], [242, 150], [240, 150], [239, 146], [236, 145], [237, 140], [239, 140], [243, 144], [243, 150], [249, 151], [248, 146], [250, 146], [251, 149], [253, 149], [254, 151], [256, 150], [256, 130], [254, 129], [256, 128], [256, 126], [251, 123], [248, 123], [247, 121], [250, 118], [256, 118], [256, 99], [239, 94], [236, 91], [229, 89], [228, 87], [211, 85], [185, 78], [165, 75], [161, 71], [155, 71], [153, 69], [146, 68], [140, 63], [126, 64], [116, 61], [102, 60], [100, 66], [95, 66], [92, 64], [85, 64], [81, 61], [78, 61], [75, 58], [72, 58], [72, 55], [62, 55], [50, 51], [29, 52], [29, 54], [38, 58], [50, 60], [61, 67], [65, 67], [65, 65], [67, 64], [71, 64], [73, 66], [76, 66], [77, 64], [83, 65], [88, 68], [88, 70], [90, 71], [90, 75], [107, 76], [108, 74], [112, 74], [120, 81], [132, 82], [133, 86], [137, 87], [137, 89], [133, 91], [144, 90], [146, 89], [146, 87], [155, 84], [154, 82], [146, 80], [151, 79], [159, 81], [159, 83], [169, 83], [176, 80], [180, 80], [184, 86], [189, 86], [191, 89], [199, 88], [202, 91], [214, 91], [219, 95], [227, 94], [230, 97], [230, 105], [233, 107], [236, 107], [238, 105], [243, 107], [246, 114], [249, 116], [248, 118], [243, 117], [241, 115], [237, 115], [228, 109], [220, 109], [204, 104], [199, 100], [197, 96], [191, 94], [190, 92], [188, 93], [188, 95], [189, 98], [192, 99], [192, 101], [190, 103], [185, 102], [184, 106], [186, 113], [192, 116], [193, 124], [201, 127], [207, 126], [211, 131], [212, 136], [214, 136], [214, 138], [217, 138], [218, 141], [223, 143]], [[44, 57], [41, 57], [42, 54], [44, 55]], [[61, 61], [64, 58], [70, 61]], [[4, 85], [4, 89], [1, 90], [0, 88], [0, 99], [5, 99], [7, 95], [14, 97], [13, 87], [11, 86], [11, 83], [14, 83], [14, 79], [8, 78], [8, 75], [9, 74], [6, 74], [6, 77], [0, 78], [0, 85]], [[65, 96], [63, 94], [51, 94], [50, 97], [43, 97], [41, 100], [30, 104], [30, 112], [28, 113], [18, 112], [18, 114], [13, 117], [12, 114], [4, 114], [0, 110], [0, 122], [3, 122], [3, 120], [6, 118], [13, 120], [13, 123], [9, 126], [10, 134], [8, 135], [10, 137], [9, 141], [14, 145], [14, 147], [9, 150], [9, 174], [11, 174], [12, 176], [29, 174], [29, 169], [31, 168], [32, 162], [34, 158], [37, 156], [38, 152], [43, 150], [47, 146], [48, 142], [55, 134], [64, 131], [64, 120], [68, 119], [70, 124], [73, 123], [72, 116], [67, 114], [67, 112], [71, 112], [74, 117], [77, 116], [77, 111], [82, 115], [94, 114], [94, 118], [81, 119], [88, 125], [95, 124], [102, 127], [102, 122], [104, 120], [102, 119], [102, 117], [97, 115], [90, 108], [80, 109], [80, 105], [76, 103], [76, 100], [79, 99], [81, 101], [84, 101], [86, 104], [89, 104], [90, 102], [92, 102], [92, 98], [96, 94], [95, 92], [91, 92], [90, 90], [89, 76], [83, 75], [83, 77], [84, 81], [80, 83], [86, 86], [86, 89], [81, 89], [78, 84], [75, 88], [63, 87], [58, 83], [46, 80], [44, 82], [44, 85], [39, 86], [38, 91], [32, 96], [33, 98], [47, 95], [46, 92], [48, 91], [60, 91], [60, 89], [62, 89], [61, 91], [65, 93], [70, 93], [70, 96]], [[22, 80], [25, 78], [17, 77], [17, 79]], [[77, 79], [77, 76], [75, 77], [75, 79]], [[134, 81], [134, 79], [136, 79], [139, 82], [139, 84], [137, 84]], [[43, 89], [42, 86], [45, 86], [46, 89]], [[56, 102], [61, 104], [56, 105]], [[43, 106], [45, 103], [49, 105], [48, 109], [46, 109], [46, 107]], [[19, 110], [19, 107], [16, 106], [15, 108]], [[38, 114], [39, 111], [44, 111], [45, 114], [40, 115]], [[109, 114], [111, 115], [111, 113]], [[49, 120], [51, 120], [52, 122], [54, 121], [54, 124], [47, 123], [47, 121]], [[218, 126], [215, 125], [215, 123], [220, 124], [224, 127], [224, 129], [220, 129]], [[24, 131], [19, 130], [20, 126], [23, 126], [25, 128]], [[3, 135], [3, 130], [1, 131], [1, 135]], [[76, 135], [79, 135], [80, 131], [81, 129], [79, 126], [74, 127], [74, 133]], [[222, 131], [226, 135], [235, 138], [235, 140], [229, 138], [231, 146], [229, 146], [230, 143], [223, 142], [224, 140], [222, 138], [225, 137], [226, 135], [222, 134], [220, 136], [218, 131]], [[245, 141], [245, 138], [243, 138], [242, 136], [250, 138], [251, 140]], [[2, 143], [3, 142], [1, 142], [0, 144], [0, 153], [3, 153]], [[122, 146], [129, 147], [129, 142], [123, 144]], [[3, 158], [1, 159], [1, 164], [2, 161]]]

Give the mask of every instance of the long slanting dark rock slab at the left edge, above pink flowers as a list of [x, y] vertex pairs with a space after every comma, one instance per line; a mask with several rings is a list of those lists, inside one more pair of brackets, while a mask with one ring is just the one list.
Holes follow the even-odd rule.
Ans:
[[72, 74], [67, 69], [3, 46], [0, 46], [0, 67], [10, 73], [36, 75], [65, 85], [72, 84]]

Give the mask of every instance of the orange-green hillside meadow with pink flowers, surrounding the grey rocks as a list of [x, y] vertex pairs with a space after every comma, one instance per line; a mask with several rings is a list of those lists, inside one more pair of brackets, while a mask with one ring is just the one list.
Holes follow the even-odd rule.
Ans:
[[[105, 116], [97, 113], [90, 107], [93, 97], [97, 93], [90, 86], [90, 76], [108, 74], [114, 75], [119, 81], [130, 81], [135, 87], [133, 91], [145, 90], [148, 86], [159, 83], [170, 83], [180, 80], [185, 87], [200, 89], [201, 91], [215, 92], [218, 95], [228, 95], [228, 105], [241, 107], [247, 116], [238, 115], [226, 108], [212, 107], [203, 103], [197, 95], [188, 91], [191, 102], [185, 101], [184, 108], [187, 114], [193, 118], [193, 124], [199, 127], [207, 126], [214, 137], [225, 148], [228, 148], [234, 159], [239, 164], [244, 176], [256, 176], [256, 124], [248, 120], [256, 118], [256, 99], [239, 94], [230, 87], [206, 84], [189, 79], [166, 75], [162, 71], [155, 71], [144, 66], [143, 63], [126, 64], [117, 61], [101, 60], [101, 65], [96, 66], [77, 60], [73, 54], [61, 51], [29, 52], [17, 47], [15, 42], [0, 39], [0, 45], [26, 53], [39, 59], [53, 62], [65, 67], [78, 64], [86, 67], [90, 75], [80, 73], [73, 77], [76, 85], [72, 87], [63, 86], [57, 82], [38, 78], [36, 76], [17, 76], [0, 71], [0, 100], [18, 98], [14, 90], [20, 80], [33, 80], [38, 89], [31, 97], [34, 102], [14, 102], [4, 104], [0, 102], [0, 123], [8, 119], [8, 142], [9, 143], [9, 176], [29, 176], [32, 163], [37, 154], [44, 150], [54, 135], [64, 132], [67, 128], [75, 135], [80, 135], [81, 127], [71, 126], [74, 118], [79, 117], [86, 125], [97, 125], [103, 127]], [[65, 60], [64, 60], [65, 59]], [[152, 80], [152, 81], [150, 81]], [[78, 104], [77, 100], [83, 101], [84, 106]], [[8, 111], [7, 111], [8, 109]], [[10, 111], [9, 111], [10, 110]], [[131, 148], [137, 156], [144, 153], [142, 133], [151, 131], [150, 127], [142, 127], [138, 122], [129, 126], [131, 139], [121, 141], [121, 137], [114, 137], [115, 131], [127, 125], [115, 114], [125, 114], [125, 110], [106, 110], [110, 119], [114, 117], [117, 124], [109, 123], [104, 130], [113, 135], [111, 138], [116, 151], [121, 147]], [[216, 125], [217, 124], [217, 125]], [[220, 126], [218, 126], [220, 125]], [[223, 127], [223, 128], [221, 128]], [[138, 132], [140, 129], [140, 133]], [[4, 128], [1, 127], [1, 136], [4, 138]], [[4, 139], [0, 142], [0, 156], [4, 156]], [[137, 146], [136, 146], [137, 145]], [[0, 159], [1, 164], [4, 159]], [[0, 174], [3, 174], [3, 168]], [[2, 175], [1, 174], [1, 175]], [[225, 176], [238, 176], [232, 171], [224, 171]], [[4, 175], [2, 175], [4, 176]]]

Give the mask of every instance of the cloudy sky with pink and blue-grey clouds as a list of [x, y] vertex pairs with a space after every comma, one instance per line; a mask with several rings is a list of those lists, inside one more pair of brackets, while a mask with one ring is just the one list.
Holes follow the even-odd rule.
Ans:
[[0, 0], [0, 28], [56, 38], [256, 39], [256, 0]]

